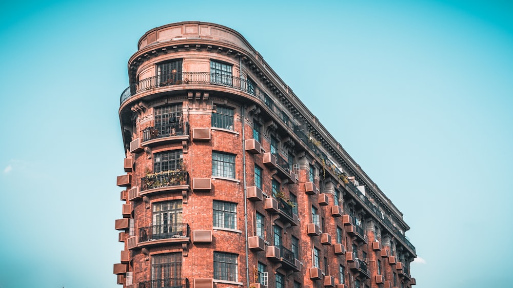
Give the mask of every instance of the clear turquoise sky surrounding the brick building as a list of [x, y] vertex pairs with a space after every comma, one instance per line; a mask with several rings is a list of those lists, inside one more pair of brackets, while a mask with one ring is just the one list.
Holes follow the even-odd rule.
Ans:
[[117, 109], [148, 30], [239, 31], [404, 213], [418, 288], [511, 287], [509, 1], [0, 4], [0, 287], [119, 287]]

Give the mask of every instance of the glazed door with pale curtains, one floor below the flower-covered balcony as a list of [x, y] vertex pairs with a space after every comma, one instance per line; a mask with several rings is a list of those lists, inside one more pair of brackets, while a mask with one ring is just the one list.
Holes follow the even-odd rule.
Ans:
[[153, 239], [185, 236], [182, 225], [182, 200], [153, 204]]

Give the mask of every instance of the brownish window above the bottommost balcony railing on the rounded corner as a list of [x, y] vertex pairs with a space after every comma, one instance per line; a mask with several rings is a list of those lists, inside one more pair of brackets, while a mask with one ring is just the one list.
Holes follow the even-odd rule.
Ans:
[[[151, 280], [158, 287], [180, 285], [182, 277], [182, 252], [151, 256]], [[160, 282], [162, 281], [162, 283]], [[177, 283], [173, 283], [177, 281]]]

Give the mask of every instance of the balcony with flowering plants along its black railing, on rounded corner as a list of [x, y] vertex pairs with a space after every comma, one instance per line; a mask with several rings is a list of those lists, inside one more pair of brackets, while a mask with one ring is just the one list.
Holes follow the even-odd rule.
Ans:
[[141, 178], [141, 196], [154, 192], [189, 189], [189, 173], [182, 170], [170, 170], [147, 174]]

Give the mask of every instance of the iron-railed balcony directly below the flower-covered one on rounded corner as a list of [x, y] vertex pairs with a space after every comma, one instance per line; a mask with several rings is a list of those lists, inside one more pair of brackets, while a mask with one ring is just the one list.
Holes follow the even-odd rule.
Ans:
[[138, 246], [189, 242], [189, 237], [189, 224], [187, 223], [153, 225], [139, 229]]

